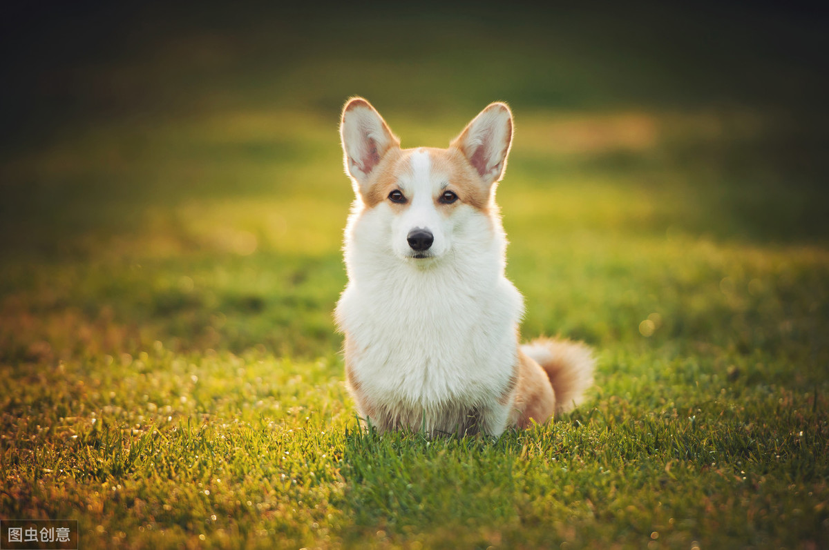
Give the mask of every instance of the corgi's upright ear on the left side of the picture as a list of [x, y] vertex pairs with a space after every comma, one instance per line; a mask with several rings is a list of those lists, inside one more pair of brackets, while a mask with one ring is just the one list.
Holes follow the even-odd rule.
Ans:
[[365, 191], [372, 171], [392, 147], [400, 147], [400, 139], [391, 133], [380, 113], [362, 98], [349, 99], [342, 108], [340, 123], [343, 162], [346, 172], [356, 183], [355, 191]]

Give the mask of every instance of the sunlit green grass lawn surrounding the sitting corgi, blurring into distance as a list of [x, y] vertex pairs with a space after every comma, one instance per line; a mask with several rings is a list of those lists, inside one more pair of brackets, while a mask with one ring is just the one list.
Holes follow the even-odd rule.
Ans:
[[[81, 548], [829, 546], [813, 23], [755, 55], [692, 17], [151, 15], [41, 59], [64, 95], [5, 137], [0, 518], [77, 519]], [[573, 413], [361, 432], [332, 322], [351, 94], [404, 146], [511, 103], [507, 271], [524, 337], [596, 350]]]

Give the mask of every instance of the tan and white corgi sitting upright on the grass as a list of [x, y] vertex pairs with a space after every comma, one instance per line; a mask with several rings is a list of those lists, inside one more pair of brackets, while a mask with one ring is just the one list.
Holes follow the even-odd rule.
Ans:
[[586, 345], [518, 339], [523, 298], [504, 275], [495, 204], [512, 133], [493, 103], [447, 149], [403, 149], [366, 99], [342, 109], [356, 198], [335, 317], [347, 386], [380, 432], [499, 437], [573, 408], [592, 384]]

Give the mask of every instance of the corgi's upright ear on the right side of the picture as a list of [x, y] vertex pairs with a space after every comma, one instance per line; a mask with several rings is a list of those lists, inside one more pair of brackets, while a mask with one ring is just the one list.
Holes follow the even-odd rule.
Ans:
[[507, 167], [512, 142], [512, 113], [507, 104], [493, 103], [455, 137], [457, 147], [487, 184], [500, 181]]

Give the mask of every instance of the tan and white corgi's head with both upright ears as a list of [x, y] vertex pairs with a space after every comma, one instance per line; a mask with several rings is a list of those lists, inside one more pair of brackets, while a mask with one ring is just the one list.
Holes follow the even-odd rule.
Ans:
[[512, 138], [506, 104], [483, 109], [447, 149], [401, 149], [380, 113], [354, 98], [342, 110], [340, 136], [372, 239], [390, 239], [382, 245], [397, 257], [425, 265], [452, 251], [455, 241], [492, 234], [494, 187]]

